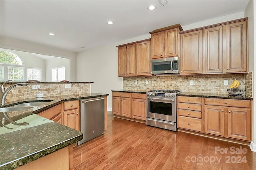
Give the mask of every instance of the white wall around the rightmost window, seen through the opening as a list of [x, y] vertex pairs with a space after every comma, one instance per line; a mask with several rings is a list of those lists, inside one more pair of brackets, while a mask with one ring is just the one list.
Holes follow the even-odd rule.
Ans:
[[46, 81], [52, 81], [52, 68], [65, 66], [65, 80], [70, 81], [70, 59], [64, 59], [59, 57], [53, 57], [52, 59], [46, 60]]

